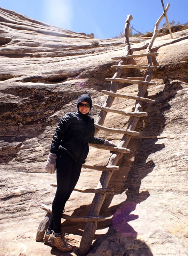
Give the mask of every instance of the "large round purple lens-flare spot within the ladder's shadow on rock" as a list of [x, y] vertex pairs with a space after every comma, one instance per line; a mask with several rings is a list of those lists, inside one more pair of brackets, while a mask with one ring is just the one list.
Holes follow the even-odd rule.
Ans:
[[135, 202], [124, 202], [113, 214], [113, 228], [126, 236], [136, 236], [137, 232], [128, 224], [128, 221], [138, 219], [138, 215], [130, 214], [136, 208]]

